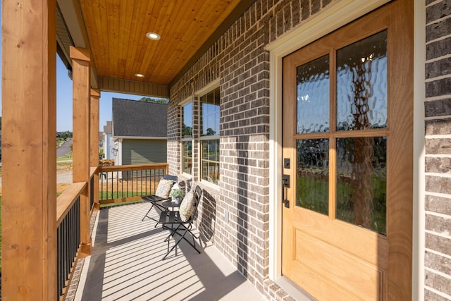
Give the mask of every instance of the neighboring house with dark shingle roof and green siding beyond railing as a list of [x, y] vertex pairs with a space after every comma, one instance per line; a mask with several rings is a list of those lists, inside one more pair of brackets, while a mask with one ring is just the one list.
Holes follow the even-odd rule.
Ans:
[[113, 98], [115, 165], [166, 163], [167, 104]]

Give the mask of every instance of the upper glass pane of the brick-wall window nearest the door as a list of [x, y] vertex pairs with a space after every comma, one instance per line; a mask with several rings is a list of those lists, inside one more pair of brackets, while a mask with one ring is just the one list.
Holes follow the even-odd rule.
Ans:
[[200, 102], [200, 133], [202, 136], [219, 135], [219, 88], [205, 94], [201, 97]]

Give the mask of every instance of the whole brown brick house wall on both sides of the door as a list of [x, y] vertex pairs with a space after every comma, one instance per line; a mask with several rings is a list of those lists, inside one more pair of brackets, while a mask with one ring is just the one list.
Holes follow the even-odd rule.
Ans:
[[[178, 173], [177, 104], [221, 80], [221, 181], [219, 189], [204, 187], [199, 228], [269, 299], [287, 296], [267, 278], [269, 56], [264, 46], [332, 2], [257, 0], [171, 87], [168, 162], [171, 173]], [[426, 300], [451, 296], [450, 15], [451, 0], [426, 0]], [[198, 179], [198, 170], [193, 176]]]

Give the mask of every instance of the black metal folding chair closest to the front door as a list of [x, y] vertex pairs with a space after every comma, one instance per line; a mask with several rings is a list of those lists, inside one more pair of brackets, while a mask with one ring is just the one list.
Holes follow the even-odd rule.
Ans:
[[[181, 240], [185, 240], [186, 242], [188, 242], [191, 245], [191, 247], [193, 247], [194, 250], [196, 250], [200, 254], [200, 251], [197, 250], [196, 242], [194, 240], [194, 238], [198, 239], [199, 237], [194, 235], [194, 233], [192, 233], [191, 229], [192, 229], [192, 222], [194, 221], [194, 218], [197, 214], [197, 207], [199, 206], [200, 200], [202, 199], [202, 188], [200, 188], [197, 185], [194, 188], [193, 193], [194, 193], [194, 196], [193, 196], [194, 210], [192, 211], [192, 214], [190, 214], [190, 216], [185, 221], [183, 221], [183, 219], [180, 217], [180, 211], [162, 211], [160, 213], [159, 223], [161, 223], [163, 228], [171, 231], [171, 233], [169, 233], [168, 237], [166, 238], [166, 240], [168, 240], [168, 252], [166, 252], [166, 254], [164, 255], [163, 260], [168, 256], [169, 253], [172, 252], [172, 250], [175, 249], [175, 247], [177, 247], [177, 245], [179, 244], [179, 242]], [[190, 233], [190, 235], [192, 236], [192, 242], [185, 237], [185, 235], [187, 233]], [[178, 238], [178, 240], [174, 239], [175, 245], [173, 245], [173, 247], [171, 247], [171, 249], [169, 249], [170, 238], [171, 238], [171, 236], [173, 237], [175, 234], [180, 235], [180, 238]]]

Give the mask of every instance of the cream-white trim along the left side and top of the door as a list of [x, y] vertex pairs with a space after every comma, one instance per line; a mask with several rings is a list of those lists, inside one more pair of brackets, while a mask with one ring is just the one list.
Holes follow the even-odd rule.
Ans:
[[[282, 59], [387, 2], [389, 0], [336, 1], [265, 47], [270, 51], [269, 278], [272, 281], [282, 277]], [[295, 162], [291, 164], [295, 166]]]

